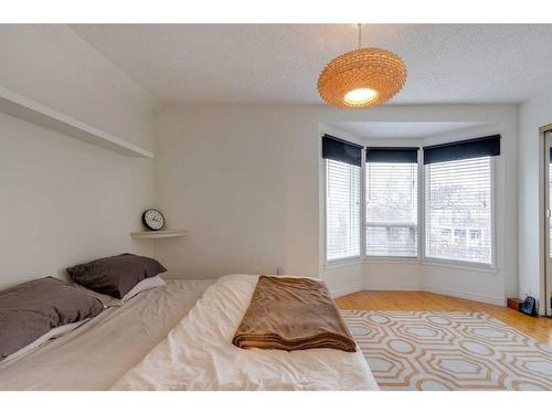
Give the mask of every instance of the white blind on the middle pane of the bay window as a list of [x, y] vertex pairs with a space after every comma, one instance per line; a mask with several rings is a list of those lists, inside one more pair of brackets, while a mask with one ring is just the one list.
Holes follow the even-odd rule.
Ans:
[[417, 163], [367, 162], [367, 255], [417, 256]]

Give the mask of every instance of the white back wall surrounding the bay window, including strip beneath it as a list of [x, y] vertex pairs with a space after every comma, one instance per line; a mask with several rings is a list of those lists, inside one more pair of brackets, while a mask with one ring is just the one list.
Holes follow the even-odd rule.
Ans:
[[[320, 234], [320, 124], [336, 121], [479, 121], [502, 135], [500, 225], [508, 233], [500, 272], [478, 286], [503, 300], [517, 289], [517, 110], [512, 105], [384, 106], [337, 110], [319, 106], [168, 105], [160, 110], [156, 202], [182, 240], [156, 244], [172, 275], [227, 273], [320, 275], [333, 293], [421, 286], [420, 269], [373, 263], [326, 268]], [[368, 272], [368, 275], [367, 275]], [[362, 277], [364, 273], [364, 277]], [[447, 275], [454, 273], [448, 272]], [[414, 276], [413, 276], [414, 275]], [[471, 279], [480, 277], [471, 273]], [[446, 276], [432, 273], [436, 287]], [[454, 276], [456, 277], [456, 276]], [[466, 274], [459, 272], [459, 278]], [[498, 291], [496, 287], [498, 286]], [[455, 286], [461, 287], [460, 285]], [[498, 296], [497, 296], [498, 295]]]

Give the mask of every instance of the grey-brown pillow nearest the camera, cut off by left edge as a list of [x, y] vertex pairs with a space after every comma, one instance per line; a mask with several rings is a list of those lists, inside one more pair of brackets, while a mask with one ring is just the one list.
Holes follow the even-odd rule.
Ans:
[[0, 361], [52, 329], [102, 310], [99, 300], [53, 277], [0, 291]]

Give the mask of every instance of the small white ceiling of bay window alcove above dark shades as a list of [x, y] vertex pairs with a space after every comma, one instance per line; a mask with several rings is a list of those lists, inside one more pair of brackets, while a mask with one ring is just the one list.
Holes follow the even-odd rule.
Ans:
[[421, 139], [463, 131], [480, 123], [328, 123], [327, 125], [363, 139]]

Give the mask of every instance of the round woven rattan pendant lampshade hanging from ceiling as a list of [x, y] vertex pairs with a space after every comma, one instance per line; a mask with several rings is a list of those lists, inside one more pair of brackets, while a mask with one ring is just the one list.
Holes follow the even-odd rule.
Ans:
[[[405, 81], [406, 66], [394, 53], [376, 47], [357, 49], [326, 65], [318, 77], [318, 93], [329, 105], [363, 108], [388, 102], [401, 91]], [[371, 92], [371, 99], [346, 100], [348, 93], [358, 89]]]

